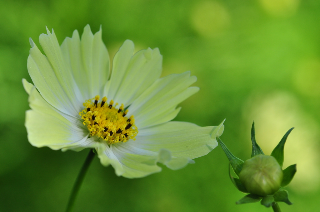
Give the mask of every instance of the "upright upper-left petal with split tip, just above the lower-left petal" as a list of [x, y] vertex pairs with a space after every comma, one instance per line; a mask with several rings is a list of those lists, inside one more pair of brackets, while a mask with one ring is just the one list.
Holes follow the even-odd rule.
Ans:
[[31, 49], [28, 57], [28, 72], [44, 99], [58, 110], [76, 116], [81, 109], [83, 97], [65, 64], [57, 38], [47, 29], [39, 36], [44, 56], [30, 39]]

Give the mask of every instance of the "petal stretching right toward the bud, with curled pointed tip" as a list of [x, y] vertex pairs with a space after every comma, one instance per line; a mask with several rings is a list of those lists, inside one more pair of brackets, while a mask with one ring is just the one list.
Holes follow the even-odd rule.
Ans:
[[219, 126], [200, 127], [188, 122], [171, 121], [141, 130], [136, 141], [132, 142], [149, 151], [168, 149], [173, 157], [194, 159], [208, 154], [218, 145], [215, 135], [212, 136], [213, 132], [222, 134], [222, 123]]

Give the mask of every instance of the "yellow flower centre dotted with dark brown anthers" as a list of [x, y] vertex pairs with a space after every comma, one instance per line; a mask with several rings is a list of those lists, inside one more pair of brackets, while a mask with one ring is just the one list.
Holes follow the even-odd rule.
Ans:
[[134, 118], [126, 118], [128, 110], [124, 110], [121, 104], [119, 109], [117, 104], [113, 106], [113, 100], [106, 104], [107, 97], [103, 97], [99, 103], [100, 96], [97, 95], [93, 99], [88, 99], [83, 103], [84, 110], [79, 115], [84, 120], [83, 124], [90, 131], [90, 136], [97, 136], [108, 144], [126, 142], [129, 139], [135, 140], [138, 128], [134, 125]]

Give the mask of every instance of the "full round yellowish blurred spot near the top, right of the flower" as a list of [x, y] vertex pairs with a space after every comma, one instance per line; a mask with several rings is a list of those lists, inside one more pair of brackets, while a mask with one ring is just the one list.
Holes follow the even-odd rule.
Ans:
[[204, 37], [217, 37], [230, 25], [226, 8], [213, 1], [198, 2], [191, 13], [193, 28]]

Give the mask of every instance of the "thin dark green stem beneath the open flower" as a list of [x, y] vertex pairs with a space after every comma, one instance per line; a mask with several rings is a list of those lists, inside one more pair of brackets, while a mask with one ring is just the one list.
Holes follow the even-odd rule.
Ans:
[[72, 209], [73, 209], [73, 206], [75, 204], [76, 197], [77, 197], [77, 195], [79, 193], [79, 190], [80, 190], [81, 184], [83, 182], [84, 176], [85, 176], [85, 174], [87, 173], [87, 171], [89, 169], [89, 166], [90, 166], [90, 164], [92, 162], [92, 159], [94, 158], [94, 155], [95, 155], [94, 152], [92, 151], [92, 149], [90, 149], [89, 154], [88, 154], [87, 158], [85, 159], [84, 164], [82, 165], [82, 168], [81, 168], [81, 170], [80, 170], [80, 172], [78, 174], [76, 182], [73, 185], [72, 192], [71, 192], [70, 197], [69, 197], [69, 202], [68, 202], [68, 206], [67, 206], [66, 212], [71, 212]]

